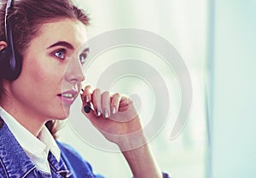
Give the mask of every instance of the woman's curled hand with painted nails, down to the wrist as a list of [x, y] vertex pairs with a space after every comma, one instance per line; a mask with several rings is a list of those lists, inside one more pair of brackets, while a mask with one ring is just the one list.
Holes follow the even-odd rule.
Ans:
[[[86, 86], [81, 99], [82, 112], [108, 141], [116, 143], [122, 150], [144, 144], [142, 123], [129, 97]], [[93, 111], [90, 113], [84, 112], [86, 103], [91, 103]]]

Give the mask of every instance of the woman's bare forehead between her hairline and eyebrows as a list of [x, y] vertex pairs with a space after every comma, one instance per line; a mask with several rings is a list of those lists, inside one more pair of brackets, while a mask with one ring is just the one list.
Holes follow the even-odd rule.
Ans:
[[71, 43], [75, 49], [87, 42], [86, 26], [79, 20], [61, 19], [45, 23], [40, 27], [38, 36], [31, 43], [47, 47], [58, 41]]

